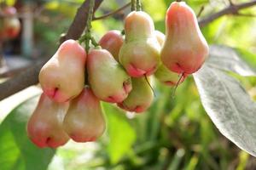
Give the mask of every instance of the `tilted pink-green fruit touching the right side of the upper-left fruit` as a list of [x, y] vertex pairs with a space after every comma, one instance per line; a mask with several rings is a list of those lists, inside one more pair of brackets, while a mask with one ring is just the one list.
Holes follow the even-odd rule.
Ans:
[[119, 103], [131, 92], [131, 77], [106, 49], [92, 49], [87, 71], [90, 88], [97, 98]]

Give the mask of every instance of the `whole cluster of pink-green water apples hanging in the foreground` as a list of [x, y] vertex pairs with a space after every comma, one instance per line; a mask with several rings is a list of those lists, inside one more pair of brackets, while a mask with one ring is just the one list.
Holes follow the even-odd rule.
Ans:
[[99, 44], [102, 48], [86, 54], [78, 42], [67, 40], [43, 66], [39, 82], [44, 94], [27, 124], [34, 144], [58, 147], [70, 138], [95, 141], [106, 127], [100, 100], [125, 111], [146, 111], [154, 99], [150, 76], [177, 85], [180, 75], [183, 82], [208, 54], [195, 13], [177, 2], [166, 12], [166, 36], [154, 31], [148, 14], [132, 11], [125, 18], [125, 38], [119, 31], [108, 31]]

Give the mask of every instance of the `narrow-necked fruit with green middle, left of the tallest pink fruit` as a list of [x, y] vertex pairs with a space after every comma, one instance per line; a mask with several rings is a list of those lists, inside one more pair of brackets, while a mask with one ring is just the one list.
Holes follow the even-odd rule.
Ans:
[[132, 11], [125, 18], [125, 43], [119, 62], [131, 77], [151, 75], [160, 64], [160, 45], [154, 36], [154, 22], [143, 11]]

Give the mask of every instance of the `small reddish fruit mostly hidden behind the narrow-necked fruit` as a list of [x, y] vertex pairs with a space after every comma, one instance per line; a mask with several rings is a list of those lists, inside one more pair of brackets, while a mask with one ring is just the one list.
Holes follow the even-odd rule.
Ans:
[[99, 41], [102, 48], [107, 49], [119, 61], [119, 50], [124, 43], [124, 37], [120, 31], [108, 31]]

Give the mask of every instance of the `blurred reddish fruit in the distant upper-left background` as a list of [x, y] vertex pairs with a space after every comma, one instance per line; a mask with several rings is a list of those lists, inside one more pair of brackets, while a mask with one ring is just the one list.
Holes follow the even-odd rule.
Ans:
[[20, 20], [15, 16], [16, 8], [6, 7], [1, 13], [5, 16], [0, 19], [0, 41], [17, 37], [20, 33]]

